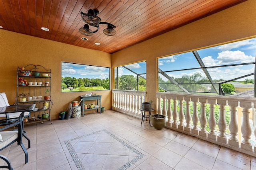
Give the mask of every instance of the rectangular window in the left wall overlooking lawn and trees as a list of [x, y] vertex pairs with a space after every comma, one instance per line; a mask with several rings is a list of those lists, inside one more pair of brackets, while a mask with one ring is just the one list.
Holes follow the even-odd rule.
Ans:
[[110, 68], [62, 62], [62, 92], [110, 90]]

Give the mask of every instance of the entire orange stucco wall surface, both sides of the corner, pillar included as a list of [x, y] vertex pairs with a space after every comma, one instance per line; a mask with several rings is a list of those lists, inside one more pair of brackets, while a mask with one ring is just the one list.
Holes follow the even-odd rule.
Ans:
[[[15, 102], [17, 66], [43, 65], [52, 70], [52, 119], [86, 92], [61, 93], [61, 62], [112, 67], [146, 61], [147, 99], [156, 105], [158, 58], [220, 43], [256, 37], [256, 1], [248, 0], [112, 55], [0, 29], [0, 92]], [[117, 29], [118, 31], [118, 29]], [[112, 87], [114, 86], [114, 75]], [[112, 106], [111, 91], [97, 91]], [[154, 107], [154, 106], [153, 106]]]

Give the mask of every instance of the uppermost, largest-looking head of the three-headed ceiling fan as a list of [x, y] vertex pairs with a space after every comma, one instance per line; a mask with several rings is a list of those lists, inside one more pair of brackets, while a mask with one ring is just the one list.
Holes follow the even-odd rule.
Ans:
[[97, 16], [98, 14], [98, 10], [90, 9], [88, 10], [88, 14], [82, 14], [82, 19], [91, 26], [98, 25], [101, 22], [100, 17]]

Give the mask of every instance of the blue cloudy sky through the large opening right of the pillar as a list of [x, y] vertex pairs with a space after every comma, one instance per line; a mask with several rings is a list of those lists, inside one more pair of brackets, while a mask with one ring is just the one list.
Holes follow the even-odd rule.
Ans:
[[[221, 66], [227, 64], [241, 64], [255, 62], [256, 56], [256, 38], [210, 47], [207, 49], [197, 50], [205, 66]], [[200, 67], [192, 52], [168, 56], [159, 59], [159, 68], [163, 71], [179, 70], [186, 68]], [[192, 75], [200, 72], [205, 75], [201, 69], [187, 70], [178, 72], [167, 72], [169, 76], [182, 77], [184, 74]], [[244, 76], [254, 72], [254, 64], [244, 66], [230, 66], [219, 68], [208, 68], [212, 79], [231, 80], [236, 77]], [[247, 77], [253, 79], [253, 76]], [[242, 78], [240, 80], [245, 80]]]

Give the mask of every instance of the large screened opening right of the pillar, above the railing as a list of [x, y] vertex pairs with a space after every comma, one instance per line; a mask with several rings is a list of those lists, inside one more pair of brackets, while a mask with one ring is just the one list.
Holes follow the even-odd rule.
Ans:
[[[159, 91], [224, 95], [253, 89], [255, 53], [253, 38], [160, 58]], [[223, 91], [224, 84], [234, 90]]]

